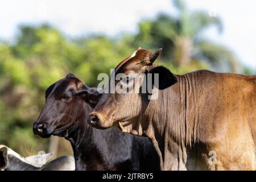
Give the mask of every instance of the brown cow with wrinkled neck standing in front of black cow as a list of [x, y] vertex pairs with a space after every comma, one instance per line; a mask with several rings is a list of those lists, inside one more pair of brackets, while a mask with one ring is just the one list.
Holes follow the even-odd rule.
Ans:
[[138, 49], [115, 68], [115, 74], [158, 73], [152, 90], [159, 97], [104, 93], [90, 125], [147, 136], [163, 170], [255, 169], [256, 77], [210, 71], [174, 75], [154, 63], [161, 51]]

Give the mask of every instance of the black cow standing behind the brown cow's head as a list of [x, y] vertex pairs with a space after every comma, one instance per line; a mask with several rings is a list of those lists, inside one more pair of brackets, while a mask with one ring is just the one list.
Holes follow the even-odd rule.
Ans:
[[76, 170], [160, 169], [158, 155], [148, 138], [125, 134], [117, 128], [97, 130], [85, 122], [100, 96], [96, 88], [68, 74], [46, 90], [46, 104], [34, 123], [34, 133], [69, 140]]

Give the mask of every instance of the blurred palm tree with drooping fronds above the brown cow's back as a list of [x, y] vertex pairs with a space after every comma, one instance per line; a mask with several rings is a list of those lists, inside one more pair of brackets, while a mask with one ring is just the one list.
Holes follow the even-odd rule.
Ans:
[[221, 71], [238, 72], [237, 60], [228, 48], [203, 38], [204, 30], [215, 26], [222, 32], [222, 22], [205, 11], [190, 12], [182, 0], [174, 0], [177, 16], [160, 14], [156, 20], [139, 24], [136, 36], [142, 46], [163, 47], [164, 60], [172, 60], [176, 67], [193, 62], [208, 63]]

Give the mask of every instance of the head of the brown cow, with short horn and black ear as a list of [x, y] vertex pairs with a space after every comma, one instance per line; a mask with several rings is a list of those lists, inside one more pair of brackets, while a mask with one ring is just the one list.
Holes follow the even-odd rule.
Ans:
[[[109, 86], [114, 84], [119, 87], [119, 85], [125, 86], [127, 84], [129, 88], [132, 86], [132, 91], [129, 93], [102, 94], [100, 101], [87, 119], [91, 126], [106, 129], [114, 124], [124, 132], [142, 135], [143, 122], [146, 121], [146, 118], [142, 119], [142, 115], [148, 109], [148, 103], [151, 102], [148, 99], [148, 90], [142, 92], [143, 88], [150, 86], [147, 81], [148, 73], [152, 73], [152, 78], [154, 78], [155, 73], [158, 73], [157, 89], [167, 88], [176, 81], [176, 77], [168, 69], [158, 67], [154, 63], [161, 51], [162, 48], [156, 52], [139, 48], [133, 55], [118, 64], [114, 74], [117, 76], [122, 73], [126, 77], [120, 79], [121, 81], [115, 79], [114, 83], [111, 83], [113, 80], [110, 79]], [[151, 89], [154, 93], [156, 80], [152, 79], [151, 82]]]

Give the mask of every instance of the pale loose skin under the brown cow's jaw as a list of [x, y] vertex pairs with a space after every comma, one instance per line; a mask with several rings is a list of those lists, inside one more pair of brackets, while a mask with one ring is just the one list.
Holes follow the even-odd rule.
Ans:
[[137, 136], [142, 136], [142, 126], [140, 123], [133, 123], [131, 121], [117, 122], [117, 127], [124, 133], [130, 133]]

